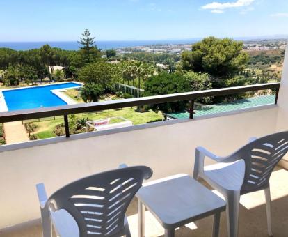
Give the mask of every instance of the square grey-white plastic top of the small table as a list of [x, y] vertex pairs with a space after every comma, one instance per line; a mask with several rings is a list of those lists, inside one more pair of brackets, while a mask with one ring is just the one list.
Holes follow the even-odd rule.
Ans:
[[145, 183], [136, 197], [166, 229], [225, 210], [226, 202], [187, 174]]

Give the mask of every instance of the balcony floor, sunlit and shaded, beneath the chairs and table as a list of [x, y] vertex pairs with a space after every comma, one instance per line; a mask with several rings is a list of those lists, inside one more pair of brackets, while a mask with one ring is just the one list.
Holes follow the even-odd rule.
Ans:
[[[288, 171], [276, 168], [271, 176], [272, 227], [274, 236], [288, 235]], [[137, 236], [137, 203], [136, 199], [129, 206], [127, 215], [131, 236]], [[195, 223], [177, 229], [176, 236], [211, 236], [213, 217], [207, 217]], [[163, 228], [151, 213], [145, 212], [145, 236], [163, 236]], [[239, 236], [260, 237], [266, 234], [266, 208], [264, 192], [254, 192], [241, 197], [239, 216]], [[1, 237], [39, 237], [40, 221], [19, 225], [0, 231]], [[227, 236], [225, 213], [221, 214], [220, 236]]]

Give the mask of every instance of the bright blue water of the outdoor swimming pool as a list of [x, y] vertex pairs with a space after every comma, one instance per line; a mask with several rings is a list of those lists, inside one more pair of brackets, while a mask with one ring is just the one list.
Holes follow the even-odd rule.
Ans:
[[3, 91], [3, 95], [8, 107], [8, 111], [20, 109], [36, 109], [40, 107], [54, 107], [67, 105], [57, 95], [51, 92], [55, 89], [64, 89], [81, 86], [74, 82], [52, 84], [49, 86], [35, 86], [31, 88], [22, 88]]

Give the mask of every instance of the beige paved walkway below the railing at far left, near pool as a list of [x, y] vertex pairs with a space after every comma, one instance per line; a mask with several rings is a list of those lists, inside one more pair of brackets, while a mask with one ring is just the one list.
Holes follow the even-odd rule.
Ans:
[[28, 142], [29, 137], [22, 121], [4, 123], [6, 144]]

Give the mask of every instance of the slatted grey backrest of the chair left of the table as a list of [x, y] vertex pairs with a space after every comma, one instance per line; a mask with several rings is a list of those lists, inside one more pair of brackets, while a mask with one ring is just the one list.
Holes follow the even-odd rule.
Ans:
[[47, 204], [64, 209], [77, 222], [80, 237], [121, 236], [125, 212], [143, 179], [152, 176], [145, 166], [125, 167], [82, 178], [56, 191]]

